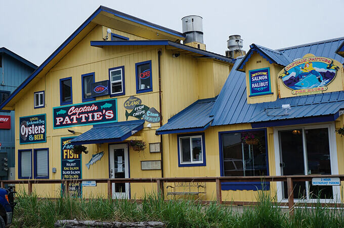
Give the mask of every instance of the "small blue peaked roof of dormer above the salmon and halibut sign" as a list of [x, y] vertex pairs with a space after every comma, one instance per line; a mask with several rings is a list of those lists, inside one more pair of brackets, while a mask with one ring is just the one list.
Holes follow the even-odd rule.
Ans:
[[278, 64], [281, 66], [287, 66], [292, 62], [292, 59], [289, 58], [288, 55], [284, 54], [283, 52], [272, 50], [267, 47], [263, 47], [260, 45], [256, 45], [252, 43], [250, 45], [250, 49], [245, 55], [244, 59], [242, 60], [241, 64], [237, 68], [234, 68], [236, 70], [242, 70], [247, 61], [251, 58], [251, 55], [257, 52], [259, 53], [264, 59], [266, 59], [270, 64]]

